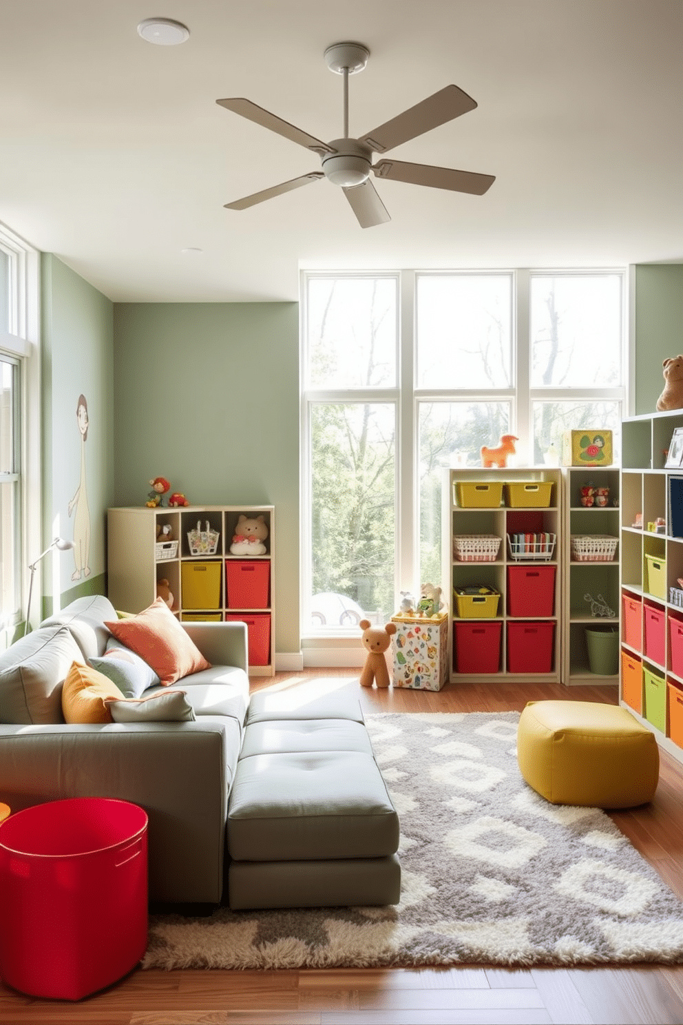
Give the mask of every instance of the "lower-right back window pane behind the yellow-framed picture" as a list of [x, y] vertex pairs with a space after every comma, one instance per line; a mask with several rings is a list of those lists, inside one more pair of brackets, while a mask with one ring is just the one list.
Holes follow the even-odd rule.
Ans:
[[[562, 435], [565, 430], [597, 430], [604, 427], [612, 433], [612, 461], [621, 461], [622, 417], [621, 402], [596, 399], [590, 401], [577, 397], [568, 402], [535, 402], [533, 409], [533, 461], [556, 463], [562, 452]], [[587, 470], [588, 473], [588, 470]]]

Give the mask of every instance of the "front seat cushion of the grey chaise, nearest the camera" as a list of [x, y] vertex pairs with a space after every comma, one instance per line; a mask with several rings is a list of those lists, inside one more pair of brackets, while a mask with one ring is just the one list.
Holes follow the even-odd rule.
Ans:
[[383, 858], [398, 816], [371, 754], [254, 754], [238, 763], [227, 845], [238, 861]]

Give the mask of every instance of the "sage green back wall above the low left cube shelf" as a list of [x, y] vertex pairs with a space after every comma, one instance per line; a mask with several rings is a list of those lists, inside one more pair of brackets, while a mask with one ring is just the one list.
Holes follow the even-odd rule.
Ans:
[[115, 303], [117, 505], [165, 477], [191, 503], [275, 506], [275, 649], [299, 644], [299, 311]]

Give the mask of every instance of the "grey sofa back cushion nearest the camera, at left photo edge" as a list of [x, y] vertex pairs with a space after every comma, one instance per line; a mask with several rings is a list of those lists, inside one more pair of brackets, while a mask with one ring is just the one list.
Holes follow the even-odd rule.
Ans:
[[0, 723], [63, 723], [61, 685], [81, 649], [66, 626], [43, 626], [0, 655]]

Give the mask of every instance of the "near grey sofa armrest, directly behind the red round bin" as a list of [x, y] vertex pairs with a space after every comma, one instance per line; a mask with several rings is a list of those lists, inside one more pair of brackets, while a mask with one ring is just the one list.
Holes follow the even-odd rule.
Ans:
[[220, 900], [237, 720], [0, 726], [0, 790], [12, 812], [66, 797], [130, 801], [150, 817], [150, 899]]

